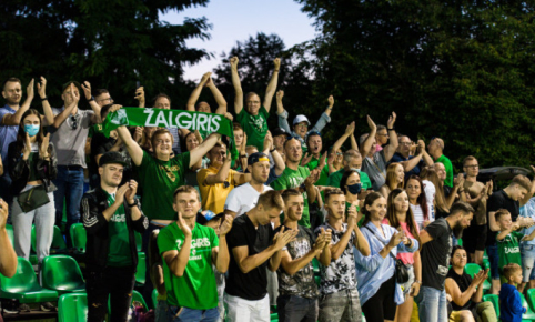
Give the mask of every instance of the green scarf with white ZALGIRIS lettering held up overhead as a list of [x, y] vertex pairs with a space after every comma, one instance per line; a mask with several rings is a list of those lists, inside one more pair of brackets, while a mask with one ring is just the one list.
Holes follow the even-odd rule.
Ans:
[[232, 122], [220, 114], [183, 110], [122, 108], [117, 112], [108, 113], [102, 123], [102, 133], [109, 138], [110, 132], [121, 125], [179, 128], [190, 131], [202, 130], [220, 133], [229, 137], [229, 150], [231, 151], [232, 160], [238, 159]]

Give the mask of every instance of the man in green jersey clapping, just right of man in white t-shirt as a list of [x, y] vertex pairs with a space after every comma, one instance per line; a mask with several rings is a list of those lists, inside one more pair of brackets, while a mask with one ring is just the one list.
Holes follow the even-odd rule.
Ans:
[[284, 142], [284, 153], [286, 154], [286, 169], [279, 179], [273, 181], [271, 187], [274, 190], [290, 188], [300, 190], [303, 194], [304, 208], [299, 224], [310, 228], [309, 203], [314, 202], [319, 194], [314, 183], [320, 178], [320, 169], [310, 171], [309, 168], [299, 165], [303, 150], [301, 150], [301, 142], [295, 138]]

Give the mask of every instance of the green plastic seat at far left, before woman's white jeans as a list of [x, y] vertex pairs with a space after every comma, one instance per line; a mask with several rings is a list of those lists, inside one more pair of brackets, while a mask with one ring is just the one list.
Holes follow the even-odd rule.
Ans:
[[19, 258], [14, 276], [0, 274], [0, 298], [17, 299], [20, 303], [52, 302], [58, 300], [58, 292], [41, 288], [31, 263]]

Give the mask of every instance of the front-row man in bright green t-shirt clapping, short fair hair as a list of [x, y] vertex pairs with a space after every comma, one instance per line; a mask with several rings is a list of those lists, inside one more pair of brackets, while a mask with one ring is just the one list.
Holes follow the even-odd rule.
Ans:
[[221, 273], [229, 269], [225, 235], [232, 227], [232, 215], [222, 220], [219, 238], [212, 228], [195, 223], [201, 200], [191, 185], [176, 189], [173, 209], [179, 220], [158, 235], [158, 248], [164, 260], [168, 321], [218, 321], [212, 263]]

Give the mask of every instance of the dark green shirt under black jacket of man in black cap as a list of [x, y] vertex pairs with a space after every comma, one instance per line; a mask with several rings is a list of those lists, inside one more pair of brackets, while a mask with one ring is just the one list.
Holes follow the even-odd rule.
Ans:
[[[108, 205], [112, 205], [113, 202], [115, 202], [115, 194], [108, 194]], [[132, 265], [127, 213], [122, 203], [108, 222], [108, 234], [110, 235], [110, 246], [107, 264], [113, 268]]]

